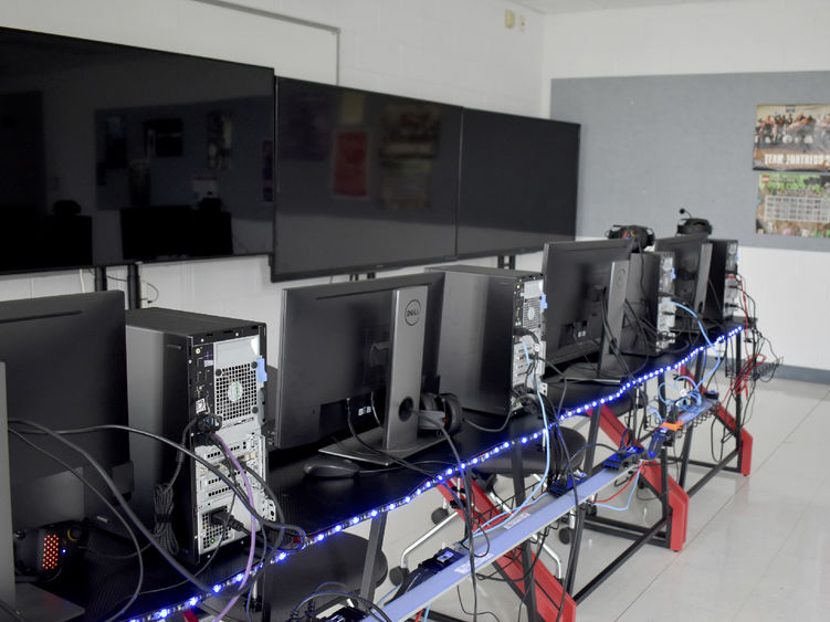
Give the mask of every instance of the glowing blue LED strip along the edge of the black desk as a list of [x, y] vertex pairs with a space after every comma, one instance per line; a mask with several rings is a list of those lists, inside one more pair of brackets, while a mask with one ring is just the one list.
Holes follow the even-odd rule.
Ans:
[[[629, 382], [626, 382], [624, 384], [622, 384], [620, 387], [619, 391], [617, 391], [616, 393], [612, 393], [611, 396], [608, 396], [608, 397], [605, 397], [605, 398], [600, 398], [598, 400], [593, 400], [591, 402], [587, 402], [587, 403], [585, 403], [585, 404], [582, 404], [580, 407], [566, 410], [565, 412], [563, 412], [559, 415], [559, 421], [565, 421], [566, 419], [570, 419], [571, 417], [575, 417], [575, 415], [578, 415], [578, 414], [588, 413], [589, 411], [591, 411], [592, 409], [595, 409], [597, 407], [601, 407], [601, 405], [614, 402], [614, 401], [619, 400], [622, 396], [624, 396], [628, 392], [629, 389], [631, 389], [633, 387], [639, 387], [641, 384], [644, 384], [649, 380], [652, 380], [653, 378], [656, 378], [658, 376], [660, 376], [661, 373], [665, 373], [666, 371], [680, 369], [681, 367], [685, 366], [690, 360], [692, 360], [694, 357], [696, 357], [698, 354], [705, 351], [710, 347], [714, 347], [714, 346], [717, 346], [718, 344], [724, 342], [725, 340], [734, 337], [735, 335], [737, 335], [742, 330], [744, 330], [744, 327], [743, 326], [737, 326], [737, 327], [733, 328], [732, 330], [729, 330], [726, 335], [721, 335], [717, 339], [715, 339], [714, 341], [712, 341], [711, 346], [708, 344], [705, 345], [705, 346], [700, 346], [700, 347], [695, 348], [694, 350], [692, 350], [691, 352], [689, 352], [684, 358], [682, 358], [681, 360], [679, 360], [679, 361], [676, 361], [676, 362], [674, 362], [672, 365], [668, 365], [665, 367], [661, 367], [660, 369], [655, 369], [655, 370], [650, 371], [648, 373], [643, 373], [642, 376], [639, 376], [635, 379], [633, 379], [633, 380], [631, 380]], [[555, 425], [555, 423], [549, 423], [548, 424], [548, 429], [553, 429], [554, 425]], [[354, 517], [349, 518], [348, 520], [345, 520], [345, 521], [343, 521], [343, 523], [340, 523], [338, 525], [335, 525], [334, 527], [330, 527], [330, 528], [326, 529], [325, 531], [319, 531], [318, 534], [309, 536], [308, 537], [308, 546], [319, 544], [323, 540], [325, 540], [326, 538], [328, 538], [329, 536], [334, 536], [336, 534], [339, 534], [344, 529], [347, 529], [348, 527], [354, 527], [355, 525], [359, 525], [360, 523], [364, 523], [365, 520], [371, 520], [372, 518], [376, 518], [380, 514], [384, 514], [384, 513], [388, 514], [388, 513], [393, 512], [395, 509], [397, 509], [397, 508], [399, 508], [399, 507], [401, 507], [403, 505], [408, 505], [408, 504], [412, 503], [414, 499], [417, 499], [418, 497], [420, 497], [422, 494], [424, 494], [428, 491], [432, 489], [433, 487], [440, 486], [440, 485], [446, 483], [448, 479], [450, 479], [450, 478], [452, 478], [452, 477], [454, 477], [456, 475], [460, 475], [461, 471], [464, 470], [464, 468], [466, 468], [467, 466], [475, 466], [477, 464], [481, 464], [482, 462], [485, 462], [485, 461], [490, 460], [491, 457], [493, 457], [495, 455], [498, 455], [502, 452], [505, 452], [505, 451], [509, 450], [511, 446], [513, 446], [513, 445], [516, 445], [516, 444], [523, 444], [523, 445], [525, 445], [525, 444], [529, 443], [530, 441], [537, 441], [537, 440], [539, 440], [543, 436], [544, 433], [545, 433], [545, 431], [544, 431], [544, 428], [543, 428], [543, 429], [538, 430], [537, 432], [534, 432], [533, 434], [526, 434], [524, 436], [521, 436], [519, 439], [514, 439], [513, 441], [505, 441], [505, 442], [500, 443], [498, 445], [496, 445], [496, 446], [487, 450], [483, 454], [480, 454], [476, 457], [473, 457], [472, 460], [470, 460], [467, 462], [462, 462], [460, 465], [448, 467], [444, 472], [440, 473], [439, 475], [437, 475], [432, 479], [430, 479], [430, 481], [421, 484], [418, 488], [416, 488], [416, 491], [412, 494], [409, 494], [409, 495], [407, 495], [403, 498], [400, 498], [400, 499], [398, 499], [396, 502], [392, 502], [392, 503], [385, 504], [385, 505], [382, 505], [380, 507], [377, 507], [375, 509], [371, 509], [369, 512], [365, 512], [364, 514], [360, 514], [358, 516], [354, 516]], [[285, 560], [287, 557], [288, 556], [285, 552], [281, 552], [280, 555], [271, 558], [270, 563], [277, 563], [280, 561]], [[254, 566], [254, 571], [259, 570], [261, 567], [262, 567], [262, 565]], [[143, 615], [140, 618], [133, 618], [133, 619], [129, 620], [129, 622], [154, 622], [156, 620], [165, 620], [166, 618], [168, 618], [172, 613], [176, 613], [176, 612], [179, 612], [179, 611], [185, 611], [185, 610], [188, 610], [188, 609], [192, 609], [193, 607], [196, 607], [197, 604], [199, 604], [201, 601], [203, 601], [207, 598], [210, 598], [210, 597], [212, 597], [214, 594], [218, 594], [219, 592], [221, 592], [222, 590], [224, 590], [229, 586], [235, 586], [237, 583], [240, 583], [242, 581], [242, 579], [243, 579], [243, 573], [240, 572], [239, 574], [235, 574], [234, 577], [228, 579], [227, 581], [224, 581], [222, 583], [217, 583], [216, 586], [213, 586], [212, 593], [204, 594], [202, 597], [193, 597], [190, 600], [181, 602], [181, 603], [179, 603], [177, 605], [172, 605], [172, 607], [169, 607], [169, 608], [166, 608], [166, 609], [160, 609], [158, 611], [155, 611], [155, 612], [149, 613], [147, 615]]]

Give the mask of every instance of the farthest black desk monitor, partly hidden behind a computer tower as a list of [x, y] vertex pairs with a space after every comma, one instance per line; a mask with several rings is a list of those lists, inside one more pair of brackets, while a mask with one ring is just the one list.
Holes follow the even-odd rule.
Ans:
[[[706, 305], [706, 284], [712, 259], [708, 233], [686, 233], [674, 238], [660, 238], [654, 251], [674, 253], [674, 298], [703, 318]], [[680, 330], [697, 330], [697, 321], [683, 309], [677, 309]]]

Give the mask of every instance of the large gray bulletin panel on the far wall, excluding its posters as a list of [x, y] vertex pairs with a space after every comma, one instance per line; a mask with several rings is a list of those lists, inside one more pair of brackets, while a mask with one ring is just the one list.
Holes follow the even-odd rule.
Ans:
[[553, 80], [551, 118], [582, 124], [577, 234], [635, 223], [670, 235], [685, 208], [743, 245], [830, 251], [755, 233], [756, 106], [821, 103], [830, 72]]

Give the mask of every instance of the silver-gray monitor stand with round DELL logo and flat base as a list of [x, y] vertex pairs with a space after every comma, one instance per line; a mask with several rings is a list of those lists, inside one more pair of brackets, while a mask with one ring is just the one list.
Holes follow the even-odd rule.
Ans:
[[396, 458], [406, 458], [444, 440], [434, 432], [419, 436], [427, 293], [427, 286], [419, 285], [401, 287], [392, 294], [382, 428], [327, 445], [319, 450], [322, 453], [389, 466]]

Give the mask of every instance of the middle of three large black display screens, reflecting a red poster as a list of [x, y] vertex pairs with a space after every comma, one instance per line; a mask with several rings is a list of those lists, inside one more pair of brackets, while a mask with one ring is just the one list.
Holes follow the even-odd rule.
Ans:
[[272, 277], [455, 256], [461, 108], [279, 78]]

